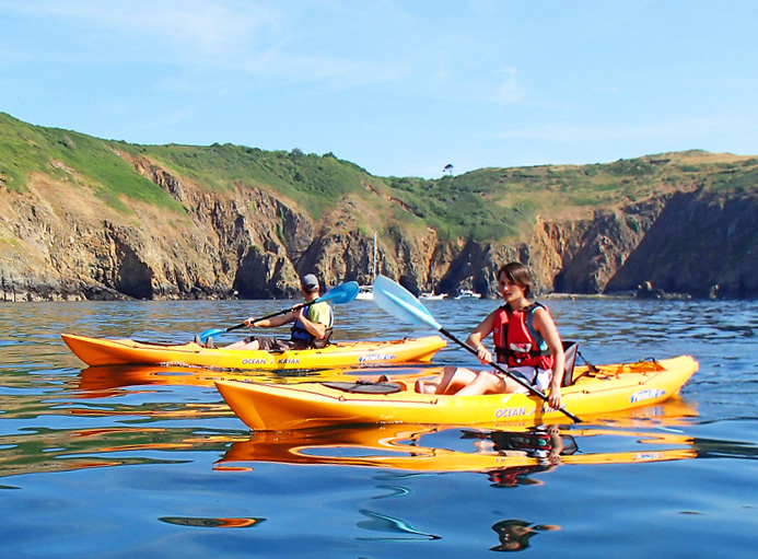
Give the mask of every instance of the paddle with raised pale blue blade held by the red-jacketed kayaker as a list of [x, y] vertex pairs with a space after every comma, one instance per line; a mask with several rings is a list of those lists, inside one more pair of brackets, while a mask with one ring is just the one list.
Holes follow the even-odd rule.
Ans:
[[[440, 334], [455, 341], [462, 348], [467, 349], [475, 356], [478, 354], [476, 349], [470, 347], [465, 341], [460, 341], [453, 334], [444, 329], [442, 325], [434, 319], [434, 317], [429, 313], [429, 311], [427, 311], [427, 307], [423, 306], [423, 304], [421, 304], [421, 302], [418, 299], [416, 299], [409, 291], [407, 291], [401, 286], [398, 286], [389, 278], [385, 278], [384, 276], [377, 276], [374, 280], [374, 303], [376, 303], [376, 305], [378, 305], [380, 308], [386, 311], [387, 313], [392, 314], [396, 318], [399, 318], [400, 321], [425, 324], [428, 326], [431, 326]], [[537, 388], [528, 384], [526, 380], [510, 373], [508, 370], [503, 369], [493, 361], [490, 361], [489, 365], [493, 366], [501, 373], [513, 379], [518, 384], [527, 388], [532, 394], [534, 394], [535, 396], [539, 396], [545, 403], [548, 401], [547, 396], [545, 396], [545, 394], [543, 394]], [[563, 407], [561, 407], [559, 411], [562, 411], [567, 417], [569, 417], [576, 423], [582, 422], [581, 419], [579, 419], [576, 416], [574, 416]]]

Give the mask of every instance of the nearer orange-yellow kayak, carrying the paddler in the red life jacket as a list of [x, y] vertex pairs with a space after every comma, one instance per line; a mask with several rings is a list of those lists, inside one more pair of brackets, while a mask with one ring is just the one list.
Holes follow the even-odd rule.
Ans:
[[[579, 416], [650, 406], [678, 394], [698, 370], [689, 356], [575, 368], [573, 385], [561, 389], [564, 409]], [[218, 381], [232, 410], [250, 429], [287, 430], [334, 423], [538, 424], [565, 420], [543, 399], [526, 394], [445, 396], [418, 394], [413, 383], [397, 380], [398, 392], [346, 392], [335, 383], [265, 384]], [[361, 387], [359, 387], [360, 389]], [[373, 388], [371, 388], [373, 389]]]

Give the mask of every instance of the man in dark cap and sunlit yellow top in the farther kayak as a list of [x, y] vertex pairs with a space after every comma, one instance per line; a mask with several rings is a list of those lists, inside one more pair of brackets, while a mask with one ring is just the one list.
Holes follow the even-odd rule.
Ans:
[[[314, 301], [320, 296], [318, 279], [313, 273], [301, 278], [300, 287], [305, 301]], [[265, 349], [266, 351], [287, 351], [288, 349], [323, 348], [329, 342], [334, 315], [326, 301], [298, 308], [290, 313], [256, 321], [250, 317], [245, 321], [248, 328], [275, 328], [292, 324], [290, 339], [273, 336], [250, 336], [236, 341], [225, 349]]]

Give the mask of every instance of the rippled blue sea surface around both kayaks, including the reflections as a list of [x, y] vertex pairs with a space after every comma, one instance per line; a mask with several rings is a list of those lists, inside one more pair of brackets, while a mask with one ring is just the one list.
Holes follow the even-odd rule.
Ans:
[[[548, 301], [591, 362], [700, 362], [680, 400], [552, 432], [252, 434], [214, 389], [221, 373], [85, 368], [59, 337], [185, 341], [288, 304], [0, 304], [2, 557], [758, 554], [758, 302]], [[462, 338], [495, 305], [427, 303]], [[371, 302], [337, 311], [339, 339], [431, 334]], [[475, 364], [455, 347], [434, 361]]]

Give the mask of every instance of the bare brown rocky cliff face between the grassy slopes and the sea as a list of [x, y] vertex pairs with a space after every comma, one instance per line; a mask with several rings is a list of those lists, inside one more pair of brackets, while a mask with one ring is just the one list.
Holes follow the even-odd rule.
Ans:
[[[131, 213], [118, 212], [81, 186], [72, 199], [71, 182], [45, 174], [27, 193], [2, 189], [2, 300], [283, 298], [298, 294], [300, 272], [315, 271], [326, 286], [372, 280], [373, 240], [349, 200], [314, 222], [281, 196], [247, 186], [212, 193], [121, 156], [185, 213], [135, 202]], [[627, 291], [649, 281], [698, 296], [755, 296], [757, 212], [748, 194], [669, 194], [539, 219], [508, 245], [394, 225], [380, 232], [377, 270], [415, 293], [469, 288], [495, 296], [498, 267], [521, 260], [548, 292]]]

